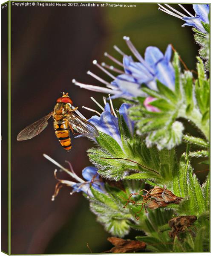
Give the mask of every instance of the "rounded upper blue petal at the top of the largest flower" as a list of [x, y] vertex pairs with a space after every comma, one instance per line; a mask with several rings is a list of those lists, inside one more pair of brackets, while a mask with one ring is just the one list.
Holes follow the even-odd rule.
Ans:
[[164, 58], [163, 53], [157, 48], [153, 46], [147, 47], [145, 51], [145, 61], [150, 67], [154, 68], [155, 64]]

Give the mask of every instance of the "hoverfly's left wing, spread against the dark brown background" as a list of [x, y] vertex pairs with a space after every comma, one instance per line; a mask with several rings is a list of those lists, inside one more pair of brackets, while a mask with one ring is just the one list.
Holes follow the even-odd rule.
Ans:
[[29, 140], [33, 137], [40, 134], [48, 125], [48, 119], [52, 116], [52, 113], [49, 113], [46, 116], [43, 116], [41, 119], [37, 120], [36, 122], [32, 123], [25, 127], [17, 136], [17, 140]]

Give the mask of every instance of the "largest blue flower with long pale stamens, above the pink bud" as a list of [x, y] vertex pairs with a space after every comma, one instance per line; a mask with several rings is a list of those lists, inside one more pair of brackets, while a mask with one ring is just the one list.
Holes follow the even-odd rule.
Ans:
[[[134, 47], [129, 37], [124, 36], [124, 40], [138, 61], [134, 61], [132, 56], [127, 56], [124, 52], [118, 49], [118, 47], [114, 46], [115, 50], [123, 56], [123, 63], [109, 55], [107, 52], [105, 52], [104, 55], [121, 66], [123, 70], [109, 66], [105, 63], [102, 63], [101, 66], [96, 60], [93, 61], [93, 64], [110, 76], [112, 79], [110, 83], [90, 71], [87, 72], [88, 75], [105, 84], [106, 87], [82, 84], [75, 79], [73, 79], [72, 82], [87, 90], [111, 94], [113, 95], [112, 99], [119, 97], [132, 99], [137, 96], [147, 96], [147, 94], [141, 90], [141, 84], [146, 84], [150, 89], [157, 90], [157, 79], [171, 90], [174, 90], [175, 73], [170, 62], [172, 55], [171, 45], [167, 47], [165, 54], [163, 54], [157, 47], [147, 47], [144, 59]], [[118, 76], [112, 75], [105, 68], [119, 73]]]

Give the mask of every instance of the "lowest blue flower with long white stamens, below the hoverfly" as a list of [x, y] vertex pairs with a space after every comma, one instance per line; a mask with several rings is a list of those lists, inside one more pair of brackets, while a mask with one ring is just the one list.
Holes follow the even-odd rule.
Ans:
[[85, 179], [83, 180], [80, 177], [78, 177], [78, 175], [75, 174], [71, 163], [66, 161], [67, 163], [69, 163], [69, 167], [70, 167], [70, 171], [69, 171], [68, 169], [61, 166], [58, 162], [56, 162], [54, 159], [52, 159], [48, 155], [43, 154], [43, 156], [49, 161], [51, 161], [52, 163], [54, 163], [56, 166], [58, 166], [60, 169], [62, 169], [64, 172], [68, 173], [73, 179], [77, 181], [77, 182], [74, 182], [70, 180], [58, 179], [58, 177], [56, 176], [57, 170], [55, 170], [54, 175], [55, 175], [55, 179], [58, 180], [58, 183], [55, 186], [55, 192], [54, 192], [54, 195], [52, 196], [52, 201], [55, 200], [55, 197], [58, 195], [58, 192], [63, 184], [65, 184], [66, 186], [72, 187], [73, 190], [70, 193], [71, 195], [74, 192], [82, 191], [86, 193], [89, 197], [93, 197], [92, 191], [90, 189], [91, 186], [101, 193], [106, 192], [104, 188], [104, 182], [100, 180], [99, 174], [95, 167], [88, 166], [82, 170], [82, 176]]

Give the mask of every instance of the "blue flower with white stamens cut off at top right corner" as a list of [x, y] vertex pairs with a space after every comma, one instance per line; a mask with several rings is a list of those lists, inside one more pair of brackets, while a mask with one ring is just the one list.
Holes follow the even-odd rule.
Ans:
[[165, 6], [167, 6], [170, 10], [165, 8], [161, 4], [158, 5], [160, 6], [159, 9], [161, 11], [166, 12], [169, 15], [175, 16], [181, 20], [184, 20], [186, 23], [184, 23], [182, 26], [193, 26], [202, 33], [207, 34], [201, 22], [209, 24], [209, 4], [193, 4], [193, 9], [196, 12], [195, 16], [190, 14], [190, 12], [188, 12], [181, 4], [178, 5], [187, 13], [187, 15], [182, 14], [168, 4], [165, 4]]

